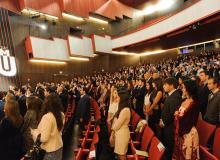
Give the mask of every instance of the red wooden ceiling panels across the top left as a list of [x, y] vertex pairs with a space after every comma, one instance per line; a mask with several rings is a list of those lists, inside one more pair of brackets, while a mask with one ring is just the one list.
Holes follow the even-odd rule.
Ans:
[[[118, 13], [119, 15], [115, 11], [113, 13], [116, 17], [121, 17], [121, 13], [130, 14], [136, 6], [147, 1], [149, 0], [0, 0], [0, 7], [15, 13], [20, 13], [24, 8], [30, 8], [57, 17], [61, 17], [62, 12], [88, 17], [89, 13], [95, 13], [109, 2], [113, 2], [119, 4], [117, 7], [122, 10]], [[101, 16], [109, 18], [105, 13]]]

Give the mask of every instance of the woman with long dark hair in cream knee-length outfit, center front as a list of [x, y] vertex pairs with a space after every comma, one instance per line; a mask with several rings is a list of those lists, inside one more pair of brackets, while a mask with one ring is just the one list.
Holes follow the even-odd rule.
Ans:
[[[126, 160], [128, 143], [130, 140], [129, 122], [131, 118], [129, 96], [126, 93], [119, 94], [119, 108], [112, 126], [110, 141], [114, 141], [114, 152], [119, 160]], [[115, 138], [113, 138], [115, 137]]]

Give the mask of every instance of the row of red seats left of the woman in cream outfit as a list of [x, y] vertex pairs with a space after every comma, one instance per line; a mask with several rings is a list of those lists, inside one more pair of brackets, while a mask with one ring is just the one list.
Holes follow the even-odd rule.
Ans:
[[79, 139], [80, 147], [74, 150], [75, 160], [92, 160], [95, 158], [96, 145], [99, 142], [98, 133], [100, 132], [98, 121], [101, 119], [101, 113], [94, 99], [91, 98], [90, 103], [91, 120], [85, 126], [82, 137]]

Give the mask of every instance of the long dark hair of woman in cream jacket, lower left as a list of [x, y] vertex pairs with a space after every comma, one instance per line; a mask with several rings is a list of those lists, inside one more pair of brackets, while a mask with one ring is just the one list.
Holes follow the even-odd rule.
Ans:
[[62, 111], [62, 102], [57, 94], [52, 93], [45, 98], [43, 103], [43, 114], [51, 112], [54, 115], [59, 131], [61, 131], [63, 128]]

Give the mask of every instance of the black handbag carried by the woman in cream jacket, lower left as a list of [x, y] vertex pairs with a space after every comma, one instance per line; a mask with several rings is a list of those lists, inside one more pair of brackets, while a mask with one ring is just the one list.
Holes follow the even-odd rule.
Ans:
[[25, 155], [25, 160], [43, 160], [44, 156], [46, 154], [46, 151], [40, 147], [41, 134], [37, 136], [36, 141], [34, 142], [33, 148], [28, 151], [28, 153]]

